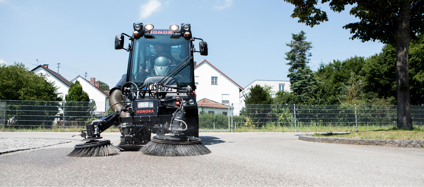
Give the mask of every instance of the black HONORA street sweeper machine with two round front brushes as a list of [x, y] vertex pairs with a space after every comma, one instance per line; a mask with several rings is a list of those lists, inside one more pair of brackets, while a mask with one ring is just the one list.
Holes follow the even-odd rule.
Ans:
[[[84, 143], [68, 156], [108, 156], [137, 150], [159, 156], [209, 154], [199, 136], [193, 53], [208, 54], [207, 43], [192, 37], [190, 24], [153, 29], [134, 23], [133, 35], [115, 37], [115, 49], [129, 52], [128, 69], [109, 92], [113, 111], [81, 132]], [[124, 37], [131, 41], [124, 48]], [[199, 40], [195, 49], [193, 41]], [[111, 73], [114, 70], [111, 70]], [[117, 146], [100, 133], [117, 126], [122, 136]], [[156, 136], [152, 136], [152, 133]]]

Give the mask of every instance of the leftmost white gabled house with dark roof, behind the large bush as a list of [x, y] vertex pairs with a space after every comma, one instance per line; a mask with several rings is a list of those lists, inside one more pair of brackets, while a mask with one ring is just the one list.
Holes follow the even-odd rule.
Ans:
[[44, 75], [47, 75], [47, 81], [54, 83], [54, 85], [57, 87], [57, 91], [59, 92], [58, 96], [62, 97], [63, 100], [65, 100], [65, 95], [68, 94], [68, 89], [71, 85], [71, 82], [65, 79], [60, 74], [54, 72], [53, 70], [50, 70], [48, 67], [48, 64], [39, 65], [31, 71], [33, 71], [35, 74], [42, 73]]

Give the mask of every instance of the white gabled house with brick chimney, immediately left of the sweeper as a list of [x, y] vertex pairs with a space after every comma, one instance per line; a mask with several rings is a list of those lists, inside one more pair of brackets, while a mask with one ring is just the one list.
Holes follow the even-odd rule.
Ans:
[[88, 94], [91, 102], [96, 102], [96, 112], [104, 112], [109, 109], [109, 91], [103, 91], [99, 87], [100, 82], [95, 81], [95, 78], [91, 78], [87, 81], [81, 76], [77, 76], [71, 80], [71, 82], [79, 81], [82, 90]]

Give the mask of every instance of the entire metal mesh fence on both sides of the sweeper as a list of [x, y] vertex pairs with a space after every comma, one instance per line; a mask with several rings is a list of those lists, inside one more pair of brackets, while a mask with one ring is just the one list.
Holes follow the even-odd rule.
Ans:
[[[396, 106], [197, 104], [202, 131], [378, 130], [396, 127], [397, 118]], [[0, 100], [0, 130], [79, 130], [108, 111], [105, 102]], [[411, 112], [413, 125], [424, 127], [424, 106]]]

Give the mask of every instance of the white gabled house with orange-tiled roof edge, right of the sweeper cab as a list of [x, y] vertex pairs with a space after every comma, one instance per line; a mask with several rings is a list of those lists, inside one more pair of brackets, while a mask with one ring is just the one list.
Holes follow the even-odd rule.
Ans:
[[194, 67], [197, 98], [218, 103], [238, 103], [243, 87], [238, 85], [207, 60]]

